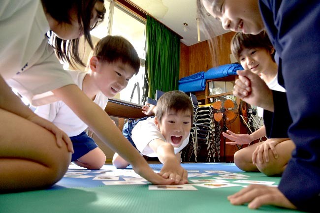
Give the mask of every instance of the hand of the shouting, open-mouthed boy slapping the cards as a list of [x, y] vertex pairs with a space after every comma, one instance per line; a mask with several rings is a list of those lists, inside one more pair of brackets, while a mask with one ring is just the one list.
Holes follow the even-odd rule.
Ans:
[[175, 184], [188, 183], [188, 172], [185, 170], [177, 159], [167, 160], [167, 163], [163, 163], [163, 167], [159, 173], [162, 178], [170, 179]]

